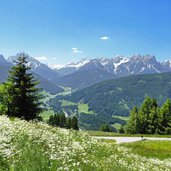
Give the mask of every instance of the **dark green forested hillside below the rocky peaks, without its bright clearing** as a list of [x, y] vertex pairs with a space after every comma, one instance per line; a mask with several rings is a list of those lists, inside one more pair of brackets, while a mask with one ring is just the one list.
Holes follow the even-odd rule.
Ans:
[[[124, 123], [120, 117], [114, 116], [128, 116], [130, 109], [135, 105], [140, 106], [146, 96], [157, 98], [160, 105], [171, 98], [171, 73], [134, 75], [103, 81], [68, 96], [56, 97], [51, 102], [57, 106], [57, 110], [78, 113], [83, 128], [98, 129], [102, 123]], [[57, 101], [62, 103], [57, 104]], [[86, 104], [88, 111], [94, 114], [79, 112], [80, 103]]]

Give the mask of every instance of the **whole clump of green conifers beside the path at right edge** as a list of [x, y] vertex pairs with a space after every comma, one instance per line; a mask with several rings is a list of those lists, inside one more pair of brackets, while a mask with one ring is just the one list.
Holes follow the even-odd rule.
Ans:
[[155, 98], [146, 97], [141, 107], [133, 107], [125, 126], [130, 134], [171, 134], [171, 101], [160, 107]]

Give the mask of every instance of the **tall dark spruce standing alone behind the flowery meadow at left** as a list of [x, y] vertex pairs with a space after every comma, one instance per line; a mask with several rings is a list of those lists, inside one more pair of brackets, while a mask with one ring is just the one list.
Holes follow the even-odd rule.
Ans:
[[34, 80], [30, 72], [31, 68], [28, 67], [27, 62], [28, 55], [20, 53], [17, 56], [17, 60], [14, 61], [16, 65], [12, 67], [8, 80], [4, 83], [4, 87], [7, 87], [8, 99], [3, 105], [7, 108], [8, 116], [25, 120], [36, 119], [41, 112], [41, 95], [39, 89], [36, 88], [39, 82]]

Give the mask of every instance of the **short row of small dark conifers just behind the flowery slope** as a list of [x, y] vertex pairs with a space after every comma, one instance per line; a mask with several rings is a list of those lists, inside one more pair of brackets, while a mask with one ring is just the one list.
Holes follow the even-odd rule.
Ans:
[[64, 113], [51, 115], [48, 124], [66, 129], [79, 130], [77, 117], [66, 117]]

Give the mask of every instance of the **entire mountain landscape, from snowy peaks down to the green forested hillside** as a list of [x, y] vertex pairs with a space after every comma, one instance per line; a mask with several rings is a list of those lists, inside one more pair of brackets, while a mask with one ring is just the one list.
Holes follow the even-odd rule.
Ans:
[[[7, 79], [15, 59], [0, 55], [0, 82]], [[124, 124], [122, 117], [128, 117], [147, 95], [157, 98], [160, 105], [171, 98], [171, 61], [159, 62], [152, 55], [84, 58], [53, 69], [28, 57], [28, 65], [45, 91], [57, 94], [65, 87], [74, 89], [70, 95], [65, 92], [66, 96], [60, 93], [50, 99], [49, 105], [54, 111], [77, 114], [86, 129], [98, 129], [102, 123]]]

